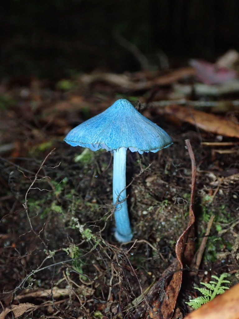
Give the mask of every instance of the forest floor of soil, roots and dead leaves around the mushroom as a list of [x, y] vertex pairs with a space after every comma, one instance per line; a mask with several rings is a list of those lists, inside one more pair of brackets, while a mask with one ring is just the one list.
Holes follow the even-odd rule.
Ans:
[[[238, 282], [239, 124], [232, 101], [239, 92], [184, 93], [195, 84], [192, 68], [2, 82], [1, 319], [11, 311], [26, 319], [183, 318], [200, 282], [223, 273], [229, 286]], [[128, 150], [134, 237], [124, 244], [113, 236], [112, 154], [63, 141], [119, 98], [174, 142], [157, 153]], [[192, 108], [196, 102], [200, 109]]]

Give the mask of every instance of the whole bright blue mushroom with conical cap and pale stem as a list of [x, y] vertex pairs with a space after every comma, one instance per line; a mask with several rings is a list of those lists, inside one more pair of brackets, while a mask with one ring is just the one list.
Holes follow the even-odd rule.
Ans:
[[133, 237], [126, 202], [126, 151], [157, 152], [172, 144], [171, 137], [158, 125], [141, 115], [125, 99], [114, 102], [104, 112], [72, 129], [64, 141], [72, 146], [100, 148], [114, 154], [113, 203], [115, 238], [120, 242]]

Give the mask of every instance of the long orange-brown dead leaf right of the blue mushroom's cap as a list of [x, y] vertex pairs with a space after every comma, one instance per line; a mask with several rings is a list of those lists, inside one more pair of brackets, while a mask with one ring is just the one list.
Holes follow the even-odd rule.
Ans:
[[165, 112], [174, 115], [177, 119], [198, 126], [214, 134], [239, 138], [239, 124], [226, 119], [224, 116], [197, 111], [180, 105], [168, 105]]

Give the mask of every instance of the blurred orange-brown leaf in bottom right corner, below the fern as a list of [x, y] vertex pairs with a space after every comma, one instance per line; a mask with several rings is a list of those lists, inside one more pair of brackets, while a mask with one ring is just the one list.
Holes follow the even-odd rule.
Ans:
[[184, 319], [238, 319], [239, 284], [192, 311]]

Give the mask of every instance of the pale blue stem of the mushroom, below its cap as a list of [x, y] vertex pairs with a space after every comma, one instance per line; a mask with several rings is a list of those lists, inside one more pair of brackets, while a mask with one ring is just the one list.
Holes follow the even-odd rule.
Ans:
[[133, 237], [126, 201], [126, 151], [125, 147], [114, 151], [113, 163], [114, 235], [120, 242], [130, 241]]

